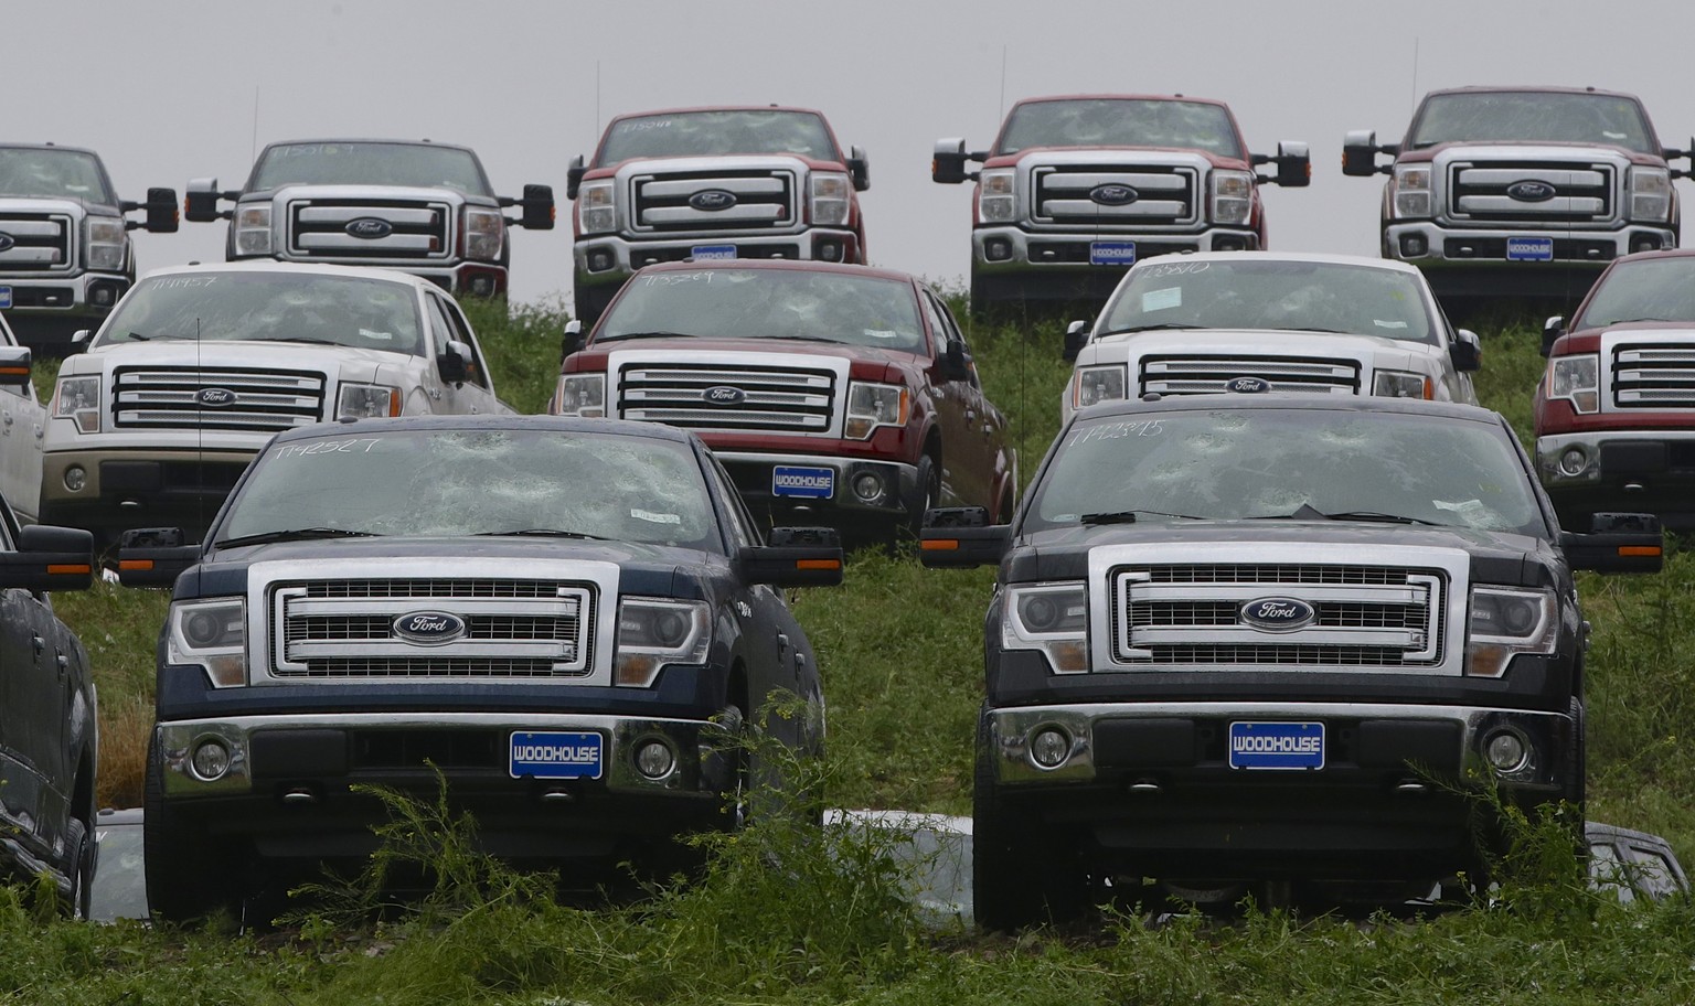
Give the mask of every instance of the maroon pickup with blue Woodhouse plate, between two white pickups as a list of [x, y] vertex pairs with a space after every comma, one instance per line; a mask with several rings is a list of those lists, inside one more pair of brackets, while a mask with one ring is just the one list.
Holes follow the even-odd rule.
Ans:
[[564, 352], [549, 412], [693, 430], [766, 527], [886, 540], [942, 503], [1010, 520], [1005, 418], [948, 307], [905, 273], [649, 266], [590, 337], [566, 325]]

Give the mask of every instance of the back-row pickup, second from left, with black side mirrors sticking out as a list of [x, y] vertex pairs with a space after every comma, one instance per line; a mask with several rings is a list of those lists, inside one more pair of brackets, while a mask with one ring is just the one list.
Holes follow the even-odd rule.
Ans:
[[[236, 203], [219, 210], [219, 202]], [[519, 207], [517, 218], [502, 210]], [[553, 230], [553, 188], [497, 196], [470, 147], [431, 141], [270, 144], [247, 183], [188, 183], [192, 222], [229, 220], [225, 261], [380, 266], [422, 276], [454, 296], [507, 291], [508, 227]]]

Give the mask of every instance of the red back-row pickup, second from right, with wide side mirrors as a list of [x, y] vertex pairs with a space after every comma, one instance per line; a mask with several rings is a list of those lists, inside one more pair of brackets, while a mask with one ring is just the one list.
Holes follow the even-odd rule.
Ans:
[[937, 141], [931, 178], [976, 183], [971, 310], [993, 312], [1100, 303], [1153, 256], [1268, 247], [1259, 186], [1305, 186], [1312, 163], [1302, 142], [1251, 154], [1222, 102], [1070, 95], [1014, 105], [988, 151]]

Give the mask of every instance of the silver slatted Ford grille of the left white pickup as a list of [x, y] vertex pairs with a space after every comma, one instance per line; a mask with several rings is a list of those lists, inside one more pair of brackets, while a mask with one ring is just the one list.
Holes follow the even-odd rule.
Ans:
[[[324, 418], [324, 374], [242, 368], [112, 373], [112, 422], [117, 428], [292, 430]], [[225, 405], [205, 405], [202, 391], [229, 393]]]

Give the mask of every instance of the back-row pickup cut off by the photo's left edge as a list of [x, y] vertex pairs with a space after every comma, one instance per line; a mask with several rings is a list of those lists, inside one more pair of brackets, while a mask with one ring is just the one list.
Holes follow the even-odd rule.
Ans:
[[[146, 218], [129, 220], [137, 210]], [[176, 230], [176, 190], [120, 200], [93, 151], [0, 146], [0, 310], [19, 342], [63, 356], [73, 332], [100, 325], [136, 281], [137, 227]]]

